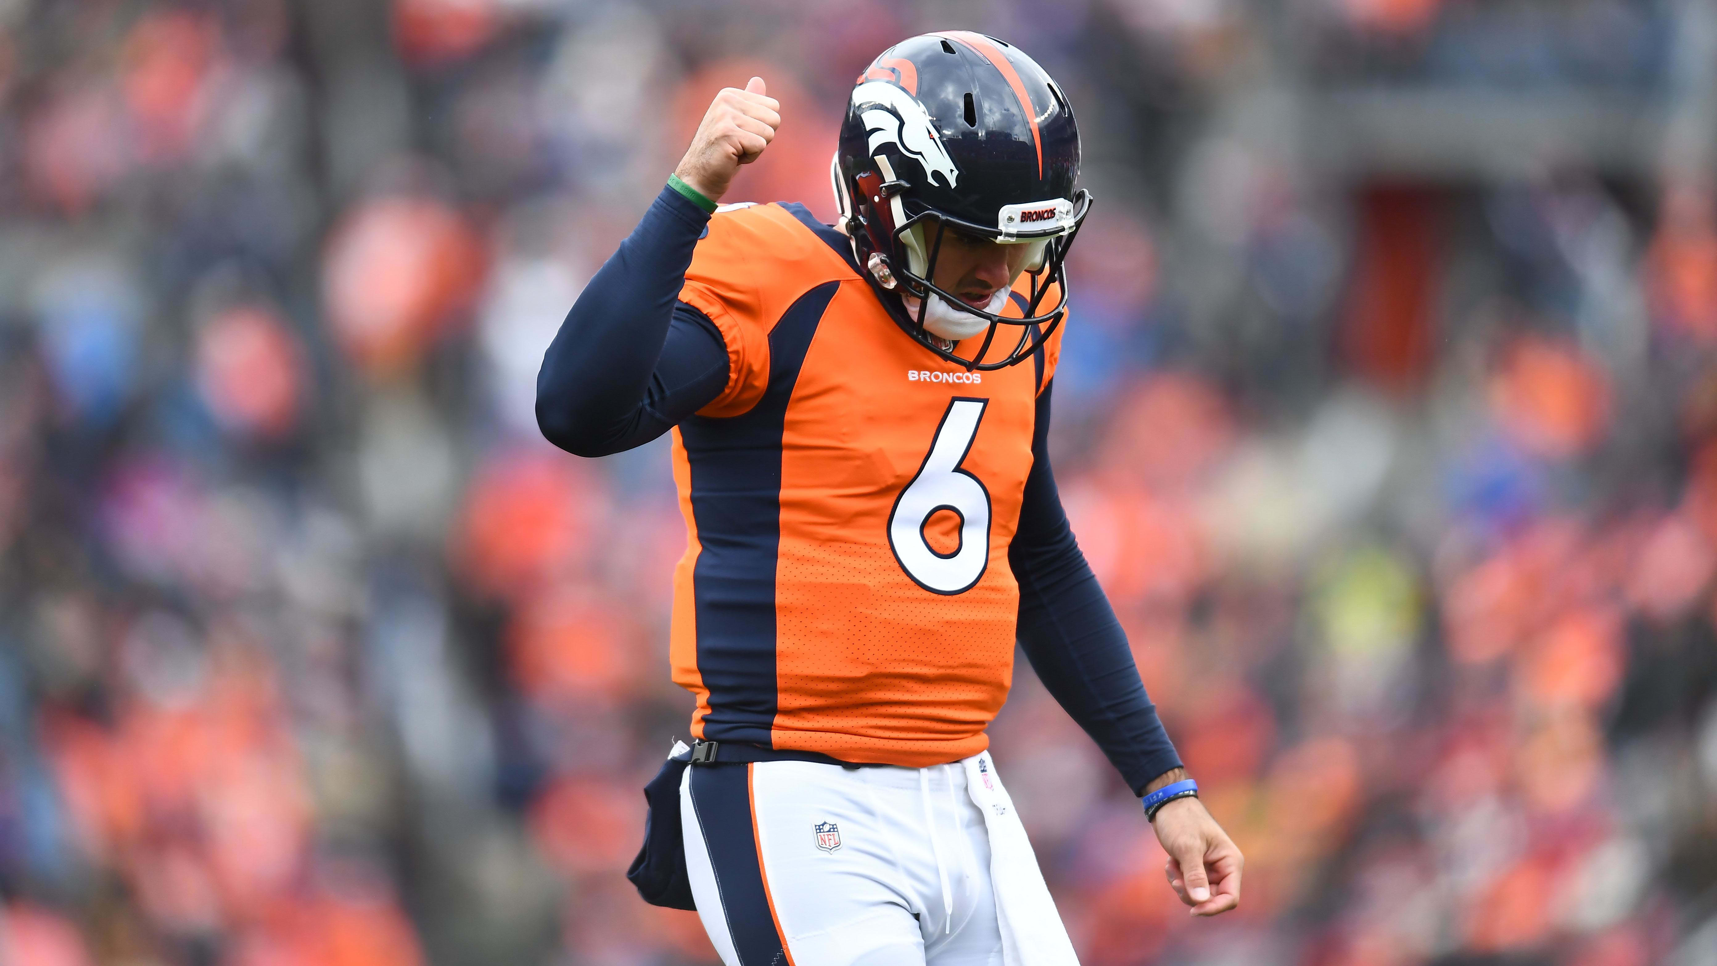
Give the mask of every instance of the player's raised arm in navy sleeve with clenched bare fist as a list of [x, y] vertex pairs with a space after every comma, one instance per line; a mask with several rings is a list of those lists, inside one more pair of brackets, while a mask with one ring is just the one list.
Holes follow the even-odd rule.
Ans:
[[678, 303], [699, 234], [733, 174], [774, 139], [762, 77], [725, 88], [639, 227], [584, 287], [537, 373], [537, 426], [577, 455], [646, 443], [728, 382], [721, 332]]

